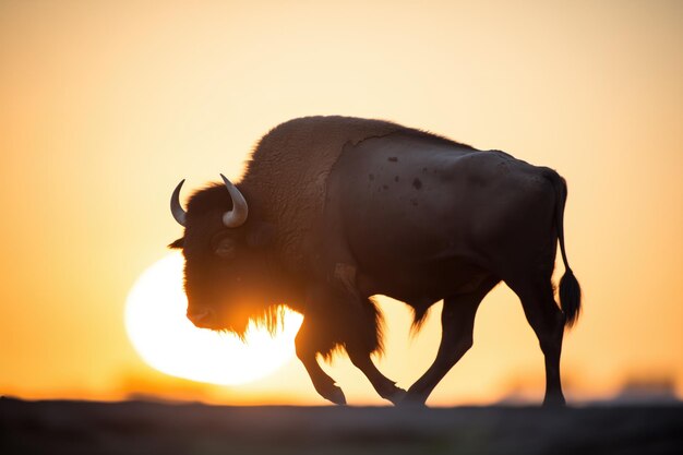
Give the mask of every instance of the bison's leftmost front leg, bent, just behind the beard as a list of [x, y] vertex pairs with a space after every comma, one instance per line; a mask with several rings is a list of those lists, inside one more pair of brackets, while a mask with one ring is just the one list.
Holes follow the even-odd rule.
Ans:
[[325, 399], [331, 400], [335, 405], [346, 405], [346, 397], [342, 388], [337, 387], [334, 380], [327, 375], [317, 363], [317, 354], [326, 351], [326, 347], [320, 335], [314, 332], [311, 323], [304, 319], [299, 328], [299, 333], [295, 339], [297, 357], [303, 363], [305, 371], [309, 373], [313, 387]]

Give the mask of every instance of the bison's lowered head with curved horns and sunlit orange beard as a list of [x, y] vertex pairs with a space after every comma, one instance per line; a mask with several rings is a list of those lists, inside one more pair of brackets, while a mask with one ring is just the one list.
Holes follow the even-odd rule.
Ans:
[[184, 236], [170, 248], [182, 249], [188, 319], [203, 328], [244, 335], [250, 320], [275, 330], [281, 315], [274, 274], [271, 225], [248, 219], [249, 206], [225, 176], [194, 193], [185, 212], [181, 181], [171, 196], [171, 213]]

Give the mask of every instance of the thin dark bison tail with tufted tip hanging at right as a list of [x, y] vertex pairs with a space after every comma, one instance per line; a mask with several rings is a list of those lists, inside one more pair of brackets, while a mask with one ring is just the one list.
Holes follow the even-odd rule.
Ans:
[[582, 288], [574, 276], [574, 272], [572, 272], [572, 267], [570, 267], [570, 261], [567, 260], [566, 250], [564, 248], [564, 205], [567, 196], [566, 182], [558, 172], [551, 169], [548, 169], [546, 177], [552, 182], [555, 189], [555, 224], [565, 270], [564, 276], [560, 279], [560, 307], [564, 313], [564, 325], [572, 327], [578, 320], [580, 313]]

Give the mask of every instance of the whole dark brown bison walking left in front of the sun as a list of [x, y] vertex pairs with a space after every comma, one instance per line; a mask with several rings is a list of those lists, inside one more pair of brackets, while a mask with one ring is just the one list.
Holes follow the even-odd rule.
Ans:
[[[546, 405], [564, 405], [560, 352], [580, 288], [563, 235], [567, 190], [554, 170], [501, 151], [396, 123], [348, 117], [285, 122], [261, 139], [237, 184], [171, 196], [188, 318], [197, 327], [273, 330], [284, 306], [303, 314], [296, 352], [324, 398], [344, 393], [319, 355], [344, 349], [394, 404], [424, 404], [472, 345], [479, 303], [504, 282], [520, 299], [546, 359]], [[565, 274], [551, 275], [558, 241]], [[408, 391], [374, 366], [382, 318], [372, 296], [415, 311], [419, 328], [443, 300], [436, 358]]]

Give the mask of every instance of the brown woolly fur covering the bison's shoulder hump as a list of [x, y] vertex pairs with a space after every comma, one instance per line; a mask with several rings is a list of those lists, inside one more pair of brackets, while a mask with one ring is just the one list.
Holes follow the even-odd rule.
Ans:
[[323, 214], [327, 176], [344, 146], [397, 132], [455, 144], [387, 121], [339, 116], [290, 120], [261, 139], [238, 185], [250, 205], [261, 207], [262, 217], [276, 224], [277, 247], [288, 270], [305, 270], [305, 258], [313, 252], [309, 239]]

